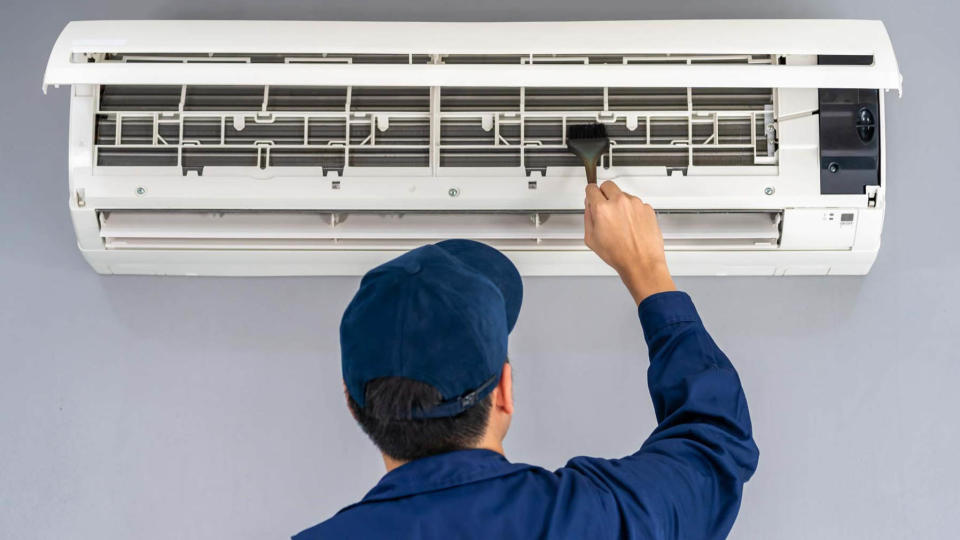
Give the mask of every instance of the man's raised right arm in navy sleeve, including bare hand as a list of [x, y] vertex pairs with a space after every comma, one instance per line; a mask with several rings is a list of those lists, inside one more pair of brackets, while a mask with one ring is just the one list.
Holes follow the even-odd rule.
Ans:
[[585, 241], [638, 304], [658, 426], [640, 450], [568, 467], [612, 499], [624, 538], [725, 538], [757, 466], [747, 402], [733, 365], [670, 278], [653, 209], [613, 182], [587, 187]]

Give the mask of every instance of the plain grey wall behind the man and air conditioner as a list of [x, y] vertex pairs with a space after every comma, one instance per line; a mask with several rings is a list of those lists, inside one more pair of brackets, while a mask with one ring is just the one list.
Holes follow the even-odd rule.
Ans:
[[[955, 538], [960, 9], [946, 0], [4, 0], [0, 537], [278, 538], [381, 474], [340, 393], [357, 280], [101, 277], [83, 262], [67, 92], [40, 93], [66, 21], [693, 17], [883, 19], [905, 79], [888, 95], [869, 276], [679, 280], [740, 369], [762, 451], [732, 536]], [[633, 451], [654, 420], [629, 296], [613, 279], [526, 287], [509, 457]]]

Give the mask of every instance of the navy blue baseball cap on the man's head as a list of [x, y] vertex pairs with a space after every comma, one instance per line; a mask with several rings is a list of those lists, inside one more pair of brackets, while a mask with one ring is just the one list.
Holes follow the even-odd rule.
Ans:
[[340, 321], [347, 391], [363, 407], [368, 382], [407, 377], [443, 396], [411, 417], [460, 414], [496, 387], [522, 299], [510, 259], [472, 240], [429, 244], [374, 268]]

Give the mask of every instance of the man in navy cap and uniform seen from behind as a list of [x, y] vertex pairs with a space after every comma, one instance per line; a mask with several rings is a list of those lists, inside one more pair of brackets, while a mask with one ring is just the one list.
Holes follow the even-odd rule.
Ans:
[[758, 458], [737, 373], [676, 290], [653, 209], [606, 182], [584, 220], [638, 305], [659, 422], [643, 446], [554, 472], [507, 461], [520, 276], [484, 244], [424, 246], [364, 276], [340, 326], [348, 406], [387, 474], [295, 540], [727, 535]]

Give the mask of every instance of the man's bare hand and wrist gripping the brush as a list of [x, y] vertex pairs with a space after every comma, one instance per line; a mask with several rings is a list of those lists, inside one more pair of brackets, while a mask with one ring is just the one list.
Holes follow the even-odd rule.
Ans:
[[599, 187], [587, 184], [583, 220], [583, 241], [620, 274], [638, 305], [651, 294], [677, 289], [649, 204], [609, 180]]

